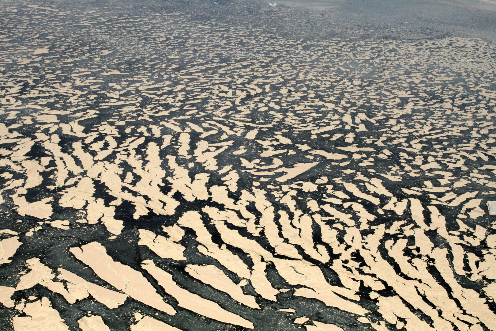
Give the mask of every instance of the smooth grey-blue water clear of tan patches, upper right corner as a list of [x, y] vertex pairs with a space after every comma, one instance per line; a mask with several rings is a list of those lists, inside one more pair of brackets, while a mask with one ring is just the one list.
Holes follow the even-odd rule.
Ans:
[[[251, 0], [264, 3], [264, 0]], [[304, 9], [304, 10], [302, 10]], [[304, 11], [306, 13], [304, 14]], [[316, 37], [326, 28], [322, 22], [342, 27], [352, 36], [421, 39], [470, 37], [496, 41], [496, 0], [281, 0], [274, 16], [292, 13], [294, 26]], [[299, 11], [299, 12], [298, 12]], [[304, 18], [305, 16], [305, 18]], [[307, 17], [308, 16], [308, 17]], [[302, 23], [319, 26], [312, 30]], [[310, 23], [311, 22], [311, 23]]]

